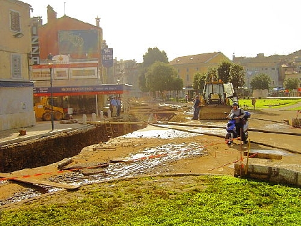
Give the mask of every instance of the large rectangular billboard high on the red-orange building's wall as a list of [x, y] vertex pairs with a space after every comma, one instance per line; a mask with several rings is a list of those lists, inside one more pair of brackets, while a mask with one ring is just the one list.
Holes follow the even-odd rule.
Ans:
[[99, 32], [96, 29], [58, 31], [61, 54], [99, 53]]

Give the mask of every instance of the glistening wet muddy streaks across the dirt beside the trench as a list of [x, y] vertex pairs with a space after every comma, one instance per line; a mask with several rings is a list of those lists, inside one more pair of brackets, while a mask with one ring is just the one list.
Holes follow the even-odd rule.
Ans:
[[[141, 129], [131, 134], [127, 134], [124, 137], [172, 139], [190, 136], [196, 136], [196, 134], [185, 131], [176, 131], [174, 129], [155, 129], [151, 131], [147, 129]], [[133, 177], [147, 174], [148, 172], [153, 173], [154, 169], [157, 171], [157, 173], [166, 173], [168, 171], [167, 165], [169, 162], [206, 154], [207, 153], [202, 145], [200, 145], [199, 140], [196, 140], [196, 142], [182, 144], [166, 143], [160, 146], [154, 145], [154, 147], [146, 148], [139, 153], [131, 154], [127, 156], [123, 162], [110, 163], [107, 168], [99, 170], [96, 174], [89, 173], [89, 175], [87, 175], [83, 171], [75, 171], [52, 177], [49, 180], [56, 183], [85, 185], [109, 181], [111, 179], [118, 179], [121, 177]], [[0, 183], [5, 184], [10, 182], [1, 181]], [[24, 186], [27, 185], [24, 184]], [[0, 205], [16, 203], [25, 199], [38, 197], [41, 194], [56, 192], [59, 190], [59, 188], [47, 186], [27, 186], [25, 192], [16, 193], [9, 199], [1, 200]]]

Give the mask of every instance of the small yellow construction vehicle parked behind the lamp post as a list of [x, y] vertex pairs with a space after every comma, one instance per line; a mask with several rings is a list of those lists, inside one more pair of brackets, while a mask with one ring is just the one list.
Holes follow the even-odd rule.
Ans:
[[[48, 97], [42, 97], [41, 103], [35, 103], [34, 112], [36, 114], [36, 118], [42, 118], [43, 121], [51, 121], [51, 105], [48, 102]], [[63, 118], [63, 108], [53, 106], [53, 119], [62, 120]]]

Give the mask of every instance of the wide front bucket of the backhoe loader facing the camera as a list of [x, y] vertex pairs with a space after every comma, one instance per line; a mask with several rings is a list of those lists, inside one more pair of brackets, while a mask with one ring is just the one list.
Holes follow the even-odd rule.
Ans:
[[[199, 119], [224, 119], [231, 112], [230, 105], [205, 105], [200, 106]], [[224, 114], [226, 113], [226, 114]]]

